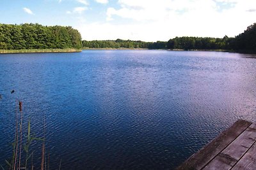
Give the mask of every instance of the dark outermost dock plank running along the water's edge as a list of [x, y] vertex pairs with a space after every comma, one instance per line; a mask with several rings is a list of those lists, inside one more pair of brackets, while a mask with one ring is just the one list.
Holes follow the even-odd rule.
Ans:
[[245, 120], [237, 120], [230, 128], [221, 132], [208, 145], [189, 157], [177, 169], [202, 169], [251, 124], [251, 122]]

